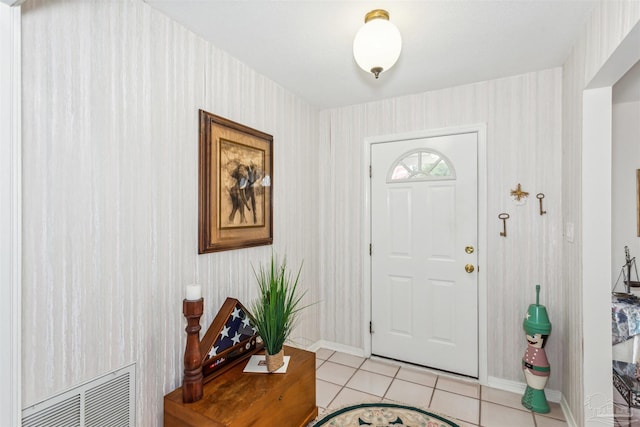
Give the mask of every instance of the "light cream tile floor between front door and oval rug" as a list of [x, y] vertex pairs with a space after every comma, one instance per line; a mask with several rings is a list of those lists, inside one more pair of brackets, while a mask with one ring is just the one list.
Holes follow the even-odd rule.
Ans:
[[332, 350], [316, 352], [316, 400], [321, 417], [363, 402], [399, 402], [431, 409], [465, 427], [567, 426], [558, 403], [545, 415], [527, 411], [522, 396], [435, 371]]

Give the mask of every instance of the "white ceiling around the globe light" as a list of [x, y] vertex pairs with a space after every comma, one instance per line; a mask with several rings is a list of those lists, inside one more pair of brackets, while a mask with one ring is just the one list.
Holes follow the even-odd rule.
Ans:
[[[145, 0], [320, 108], [561, 66], [596, 1]], [[364, 15], [389, 11], [400, 59], [378, 80], [356, 65]]]

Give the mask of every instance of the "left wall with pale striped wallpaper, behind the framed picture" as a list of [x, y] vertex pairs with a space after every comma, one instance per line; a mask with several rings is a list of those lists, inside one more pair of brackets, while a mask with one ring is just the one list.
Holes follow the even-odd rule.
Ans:
[[[197, 255], [198, 109], [274, 137], [274, 245], [320, 298], [318, 111], [139, 0], [23, 6], [23, 403], [137, 362], [137, 424], [181, 383], [185, 285], [209, 325], [271, 247]], [[320, 338], [319, 307], [294, 339]]]

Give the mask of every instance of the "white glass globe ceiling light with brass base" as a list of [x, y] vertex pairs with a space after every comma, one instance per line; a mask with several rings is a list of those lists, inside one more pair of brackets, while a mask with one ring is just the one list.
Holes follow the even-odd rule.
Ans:
[[400, 57], [402, 36], [398, 27], [389, 21], [386, 10], [372, 10], [365, 15], [364, 22], [353, 40], [353, 57], [360, 68], [373, 73], [377, 79]]

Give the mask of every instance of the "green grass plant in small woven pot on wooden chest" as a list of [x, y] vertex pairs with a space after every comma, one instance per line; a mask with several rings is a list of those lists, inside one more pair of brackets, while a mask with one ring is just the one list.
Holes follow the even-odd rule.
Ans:
[[287, 269], [286, 258], [279, 263], [273, 254], [267, 267], [260, 266], [258, 271], [253, 269], [259, 295], [247, 314], [262, 338], [269, 372], [277, 371], [284, 365], [284, 343], [293, 330], [300, 310], [305, 308], [300, 304], [304, 292], [298, 292], [301, 271], [302, 265], [294, 278]]

